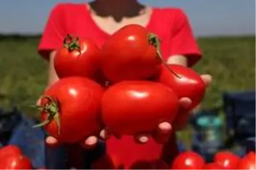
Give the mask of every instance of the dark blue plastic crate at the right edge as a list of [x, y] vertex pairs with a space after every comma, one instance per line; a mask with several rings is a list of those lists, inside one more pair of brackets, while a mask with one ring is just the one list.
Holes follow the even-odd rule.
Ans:
[[256, 90], [223, 94], [226, 134], [236, 141], [256, 136]]

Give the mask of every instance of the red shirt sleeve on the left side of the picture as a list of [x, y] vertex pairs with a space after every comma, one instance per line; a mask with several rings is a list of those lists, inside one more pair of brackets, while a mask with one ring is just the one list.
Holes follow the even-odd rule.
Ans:
[[38, 45], [38, 53], [49, 60], [49, 54], [63, 45], [63, 38], [66, 35], [63, 5], [58, 4], [51, 10]]

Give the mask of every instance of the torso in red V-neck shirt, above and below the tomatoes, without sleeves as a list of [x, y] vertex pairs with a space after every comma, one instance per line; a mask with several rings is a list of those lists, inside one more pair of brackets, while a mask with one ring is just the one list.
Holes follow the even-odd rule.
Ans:
[[[93, 39], [97, 45], [102, 46], [113, 32], [117, 31], [124, 25], [140, 23], [140, 25], [146, 27], [149, 31], [159, 36], [162, 42], [161, 50], [163, 57], [169, 57], [168, 55], [172, 46], [172, 27], [175, 17], [175, 9], [147, 8], [148, 11], [145, 15], [132, 18], [132, 20], [124, 19], [120, 23], [115, 23], [111, 18], [102, 19], [92, 15], [85, 4], [67, 4], [66, 9], [65, 29], [69, 34]], [[104, 27], [102, 27], [102, 25], [104, 25]], [[111, 27], [108, 25], [111, 25]], [[122, 140], [111, 138], [106, 142], [106, 145], [107, 152], [111, 159], [113, 159], [115, 164], [118, 166], [122, 164], [125, 170], [131, 169], [132, 164], [135, 164], [139, 160], [142, 160], [142, 162], [144, 161], [144, 163], [145, 161], [149, 161], [148, 164], [151, 164], [152, 162], [157, 162], [162, 157], [163, 146], [152, 140], [146, 145], [138, 145], [134, 143], [134, 139], [132, 137], [126, 136]], [[148, 164], [146, 166], [148, 166]], [[156, 164], [159, 164], [159, 162]], [[102, 168], [106, 169], [107, 167], [106, 162], [99, 162], [97, 166], [99, 165], [100, 167], [95, 168], [95, 170]], [[160, 166], [162, 167], [163, 165]], [[142, 166], [141, 168], [145, 169], [145, 166]], [[152, 166], [150, 168], [154, 167]], [[157, 168], [162, 170], [159, 167]], [[163, 169], [165, 168], [166, 167]], [[108, 167], [108, 169], [112, 170], [110, 167]]]

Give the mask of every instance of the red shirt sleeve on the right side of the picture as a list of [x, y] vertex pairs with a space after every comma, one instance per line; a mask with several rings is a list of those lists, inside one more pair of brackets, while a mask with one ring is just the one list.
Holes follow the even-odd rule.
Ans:
[[193, 66], [202, 57], [188, 17], [182, 10], [177, 10], [175, 17], [170, 55], [185, 55], [188, 58], [188, 67]]

